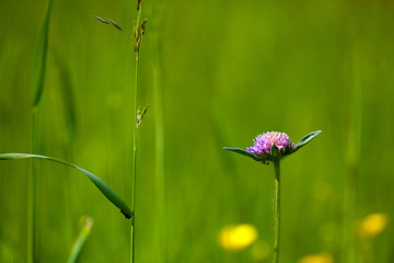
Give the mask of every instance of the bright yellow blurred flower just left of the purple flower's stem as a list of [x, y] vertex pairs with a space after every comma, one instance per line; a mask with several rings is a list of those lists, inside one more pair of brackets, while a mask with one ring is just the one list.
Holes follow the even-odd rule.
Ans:
[[227, 226], [220, 231], [219, 243], [225, 250], [243, 250], [257, 237], [257, 229], [252, 225]]

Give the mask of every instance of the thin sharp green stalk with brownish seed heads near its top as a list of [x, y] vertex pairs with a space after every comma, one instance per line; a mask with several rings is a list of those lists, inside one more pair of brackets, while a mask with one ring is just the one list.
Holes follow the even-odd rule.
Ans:
[[135, 36], [136, 36], [136, 76], [135, 76], [135, 93], [134, 93], [134, 133], [132, 133], [132, 199], [131, 199], [131, 210], [132, 210], [132, 218], [131, 218], [131, 228], [130, 228], [130, 262], [135, 262], [135, 241], [136, 241], [136, 184], [137, 184], [137, 95], [138, 95], [138, 62], [139, 62], [139, 47], [141, 36], [140, 32], [140, 18], [142, 12], [142, 3], [141, 0], [137, 0], [137, 21], [135, 25]]

